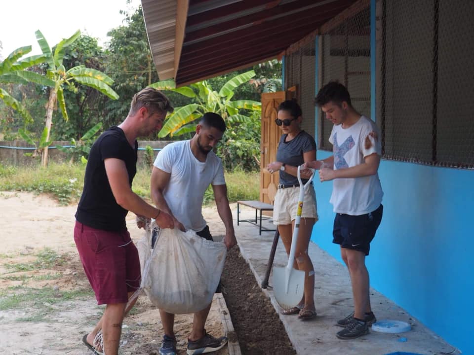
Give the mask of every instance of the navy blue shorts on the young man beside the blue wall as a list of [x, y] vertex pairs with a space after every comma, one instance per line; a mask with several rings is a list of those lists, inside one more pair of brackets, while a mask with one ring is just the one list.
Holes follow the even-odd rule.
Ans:
[[383, 211], [384, 207], [380, 205], [377, 210], [358, 216], [336, 213], [332, 242], [342, 248], [358, 250], [368, 255], [370, 242], [382, 221]]

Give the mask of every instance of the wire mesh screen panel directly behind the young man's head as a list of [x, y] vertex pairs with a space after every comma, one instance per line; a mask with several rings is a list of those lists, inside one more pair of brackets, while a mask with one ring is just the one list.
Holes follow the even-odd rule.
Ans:
[[[354, 13], [319, 38], [321, 86], [334, 80], [344, 84], [351, 94], [354, 108], [370, 117], [370, 6]], [[319, 147], [332, 150], [328, 141], [332, 123], [322, 112], [318, 128]]]

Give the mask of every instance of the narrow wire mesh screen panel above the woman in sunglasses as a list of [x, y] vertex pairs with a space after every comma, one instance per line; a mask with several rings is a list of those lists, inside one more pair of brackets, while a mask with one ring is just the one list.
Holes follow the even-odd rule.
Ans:
[[315, 40], [308, 38], [308, 43], [285, 57], [286, 88], [296, 86], [296, 99], [303, 111], [301, 128], [315, 136], [315, 76], [316, 57]]

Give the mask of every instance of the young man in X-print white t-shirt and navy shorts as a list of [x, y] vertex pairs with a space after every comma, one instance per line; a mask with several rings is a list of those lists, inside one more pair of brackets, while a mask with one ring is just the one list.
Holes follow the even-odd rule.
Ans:
[[333, 243], [341, 246], [354, 298], [354, 312], [337, 321], [344, 327], [337, 337], [354, 339], [367, 334], [376, 321], [370, 307], [365, 256], [382, 220], [383, 191], [377, 173], [382, 148], [377, 126], [354, 109], [344, 85], [333, 81], [323, 86], [316, 104], [334, 124], [329, 137], [334, 154], [306, 166], [319, 169], [321, 182], [334, 180], [330, 200], [336, 213]]

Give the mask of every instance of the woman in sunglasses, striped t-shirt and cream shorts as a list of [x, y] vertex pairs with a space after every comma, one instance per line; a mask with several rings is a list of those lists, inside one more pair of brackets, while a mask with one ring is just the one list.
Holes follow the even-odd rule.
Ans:
[[[276, 191], [273, 220], [289, 254], [300, 185], [297, 168], [306, 162], [316, 160], [316, 142], [314, 138], [301, 129], [301, 107], [292, 100], [282, 102], [278, 106], [278, 118], [275, 123], [281, 128], [282, 136], [276, 151], [276, 162], [270, 163], [267, 170], [279, 173], [279, 185]], [[302, 174], [303, 183], [309, 176]], [[313, 225], [317, 221], [316, 195], [313, 186], [305, 189], [303, 211], [298, 232], [298, 243], [295, 253], [295, 268], [305, 271], [305, 292], [301, 302], [293, 308], [283, 310], [283, 314], [298, 314], [298, 318], [307, 320], [316, 316], [314, 290], [315, 271], [308, 246]]]

